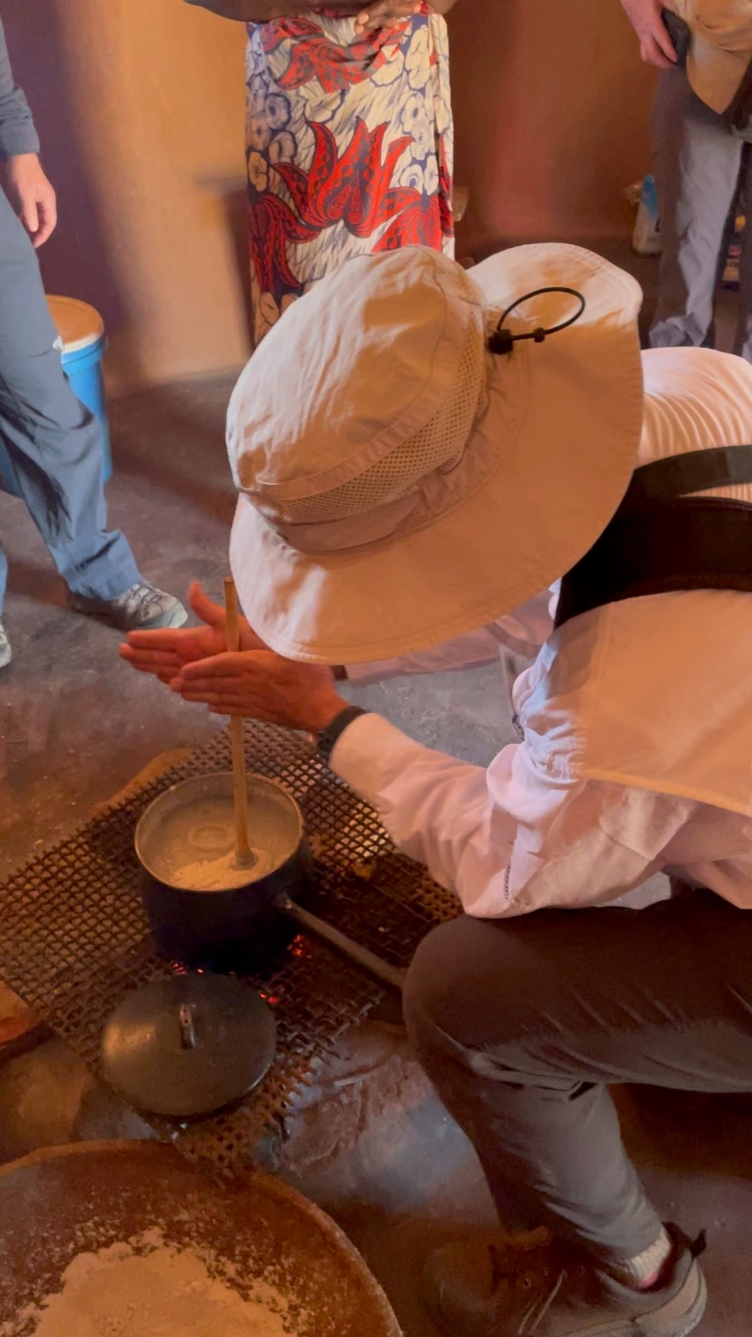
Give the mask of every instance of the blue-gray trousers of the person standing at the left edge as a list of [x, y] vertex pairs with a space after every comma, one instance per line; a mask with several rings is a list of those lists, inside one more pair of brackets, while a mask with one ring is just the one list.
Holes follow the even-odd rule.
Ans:
[[[33, 247], [0, 190], [0, 439], [63, 580], [112, 599], [138, 580], [127, 540], [106, 532], [96, 418], [75, 397]], [[0, 612], [8, 563], [0, 547]]]

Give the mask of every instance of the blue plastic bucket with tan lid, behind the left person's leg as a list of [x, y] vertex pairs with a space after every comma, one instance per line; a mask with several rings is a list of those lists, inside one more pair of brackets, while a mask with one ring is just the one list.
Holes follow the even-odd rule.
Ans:
[[[71, 382], [74, 394], [99, 418], [102, 428], [102, 456], [104, 481], [112, 477], [110, 427], [104, 401], [102, 358], [107, 338], [102, 317], [92, 306], [71, 297], [50, 297], [50, 314], [60, 332], [60, 362]], [[20, 496], [16, 475], [5, 448], [0, 443], [0, 491]]]

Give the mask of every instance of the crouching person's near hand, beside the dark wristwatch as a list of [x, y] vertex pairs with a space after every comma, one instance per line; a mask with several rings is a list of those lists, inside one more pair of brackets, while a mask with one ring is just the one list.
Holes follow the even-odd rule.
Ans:
[[325, 729], [347, 706], [331, 668], [282, 659], [270, 650], [186, 663], [170, 687], [183, 701], [209, 706], [214, 715], [248, 715], [305, 733]]

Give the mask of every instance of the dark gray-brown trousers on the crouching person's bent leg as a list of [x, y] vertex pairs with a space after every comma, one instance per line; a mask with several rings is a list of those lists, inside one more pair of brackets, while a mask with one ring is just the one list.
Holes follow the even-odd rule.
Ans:
[[458, 919], [419, 948], [404, 1007], [502, 1221], [633, 1258], [660, 1221], [607, 1083], [752, 1090], [752, 913], [685, 890], [644, 910]]

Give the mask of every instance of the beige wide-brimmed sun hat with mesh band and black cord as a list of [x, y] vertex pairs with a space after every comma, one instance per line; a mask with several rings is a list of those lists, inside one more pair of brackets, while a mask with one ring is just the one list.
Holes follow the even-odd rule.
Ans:
[[[488, 333], [527, 334], [506, 354]], [[359, 257], [266, 336], [236, 386], [230, 564], [278, 654], [427, 648], [563, 575], [618, 507], [642, 422], [640, 286], [577, 246], [471, 274], [415, 247]]]

